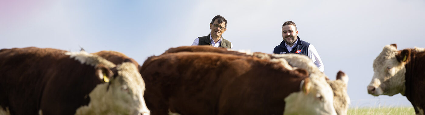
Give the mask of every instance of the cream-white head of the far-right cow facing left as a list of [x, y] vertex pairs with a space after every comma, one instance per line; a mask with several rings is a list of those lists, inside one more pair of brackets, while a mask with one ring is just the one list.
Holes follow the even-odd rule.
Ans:
[[408, 62], [410, 50], [397, 50], [397, 45], [385, 45], [374, 60], [374, 75], [368, 85], [368, 93], [374, 96], [395, 95], [405, 91], [405, 63]]

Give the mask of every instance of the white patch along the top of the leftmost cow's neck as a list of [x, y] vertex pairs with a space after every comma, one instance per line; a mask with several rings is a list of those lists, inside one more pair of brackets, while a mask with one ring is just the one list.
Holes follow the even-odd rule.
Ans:
[[115, 65], [112, 62], [109, 62], [108, 60], [94, 55], [87, 53], [85, 51], [80, 52], [66, 52], [66, 55], [69, 55], [70, 58], [74, 58], [75, 60], [81, 62], [81, 64], [96, 66], [98, 64], [105, 65], [109, 68], [115, 67]]

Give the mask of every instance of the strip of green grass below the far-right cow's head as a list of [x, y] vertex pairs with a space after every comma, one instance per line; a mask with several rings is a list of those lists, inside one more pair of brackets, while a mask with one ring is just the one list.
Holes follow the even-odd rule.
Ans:
[[415, 115], [413, 107], [348, 108], [347, 115]]

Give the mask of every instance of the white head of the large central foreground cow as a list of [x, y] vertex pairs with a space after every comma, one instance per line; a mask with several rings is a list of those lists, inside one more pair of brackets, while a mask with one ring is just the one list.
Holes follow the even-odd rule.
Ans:
[[283, 115], [337, 115], [332, 89], [325, 79], [306, 78], [300, 88], [285, 98]]

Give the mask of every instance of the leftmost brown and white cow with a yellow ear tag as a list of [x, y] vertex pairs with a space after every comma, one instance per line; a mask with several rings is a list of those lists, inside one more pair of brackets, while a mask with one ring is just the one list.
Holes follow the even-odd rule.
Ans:
[[50, 48], [0, 50], [0, 113], [149, 115], [137, 67]]

